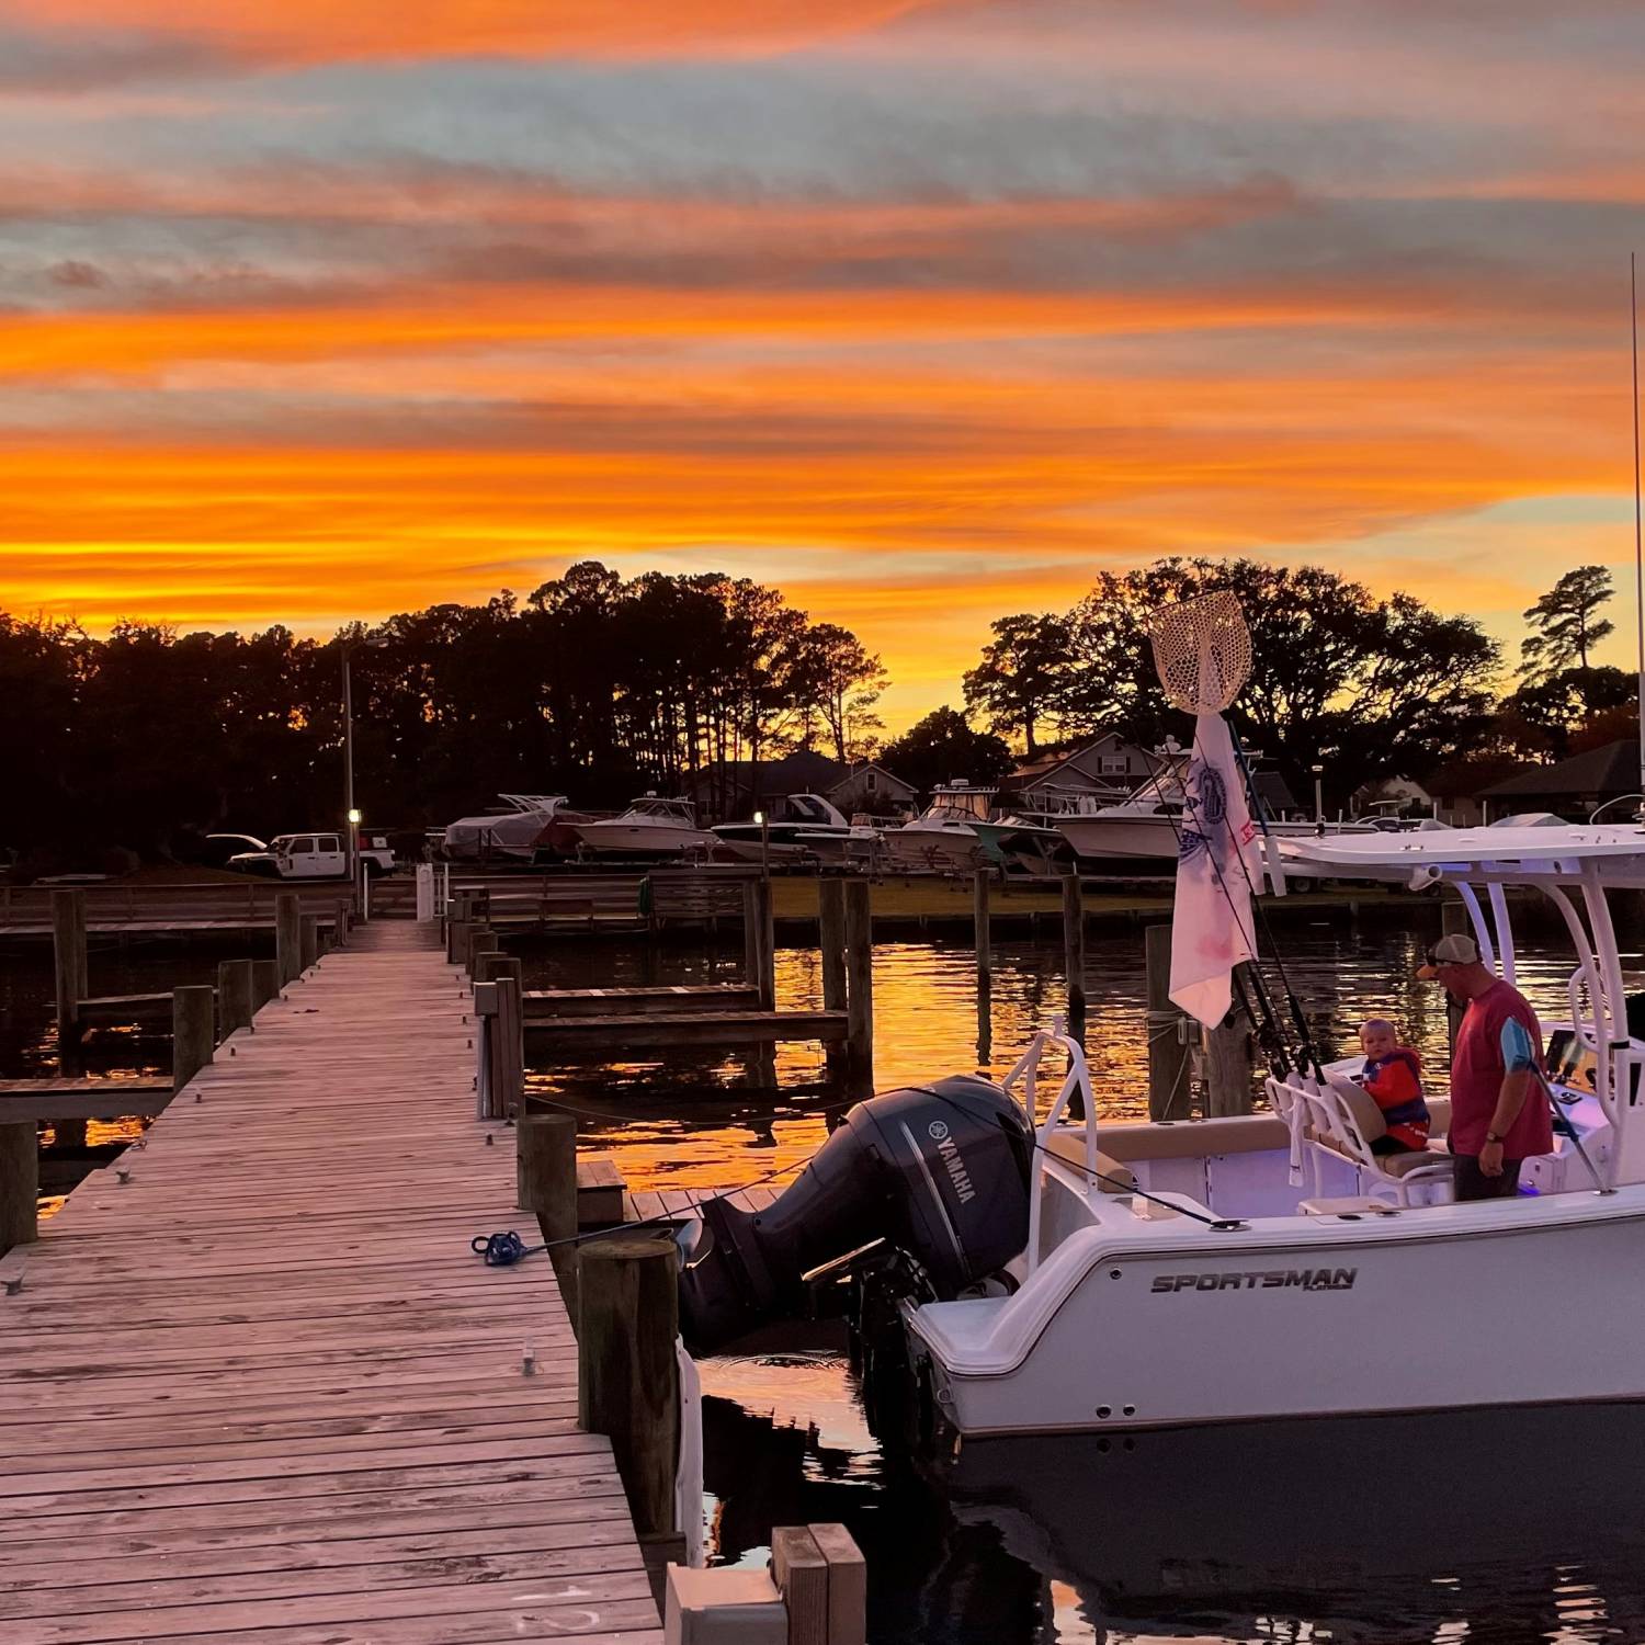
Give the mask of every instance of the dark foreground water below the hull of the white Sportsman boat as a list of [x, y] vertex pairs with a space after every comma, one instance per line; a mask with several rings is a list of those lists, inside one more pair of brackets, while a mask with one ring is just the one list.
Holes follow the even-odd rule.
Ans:
[[967, 1444], [915, 1466], [844, 1359], [704, 1365], [711, 1546], [842, 1520], [875, 1645], [1638, 1638], [1645, 1408]]

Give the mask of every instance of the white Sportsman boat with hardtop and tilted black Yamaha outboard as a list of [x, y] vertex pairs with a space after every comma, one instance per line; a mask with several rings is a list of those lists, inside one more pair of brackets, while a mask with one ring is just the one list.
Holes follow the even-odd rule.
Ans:
[[[1453, 1204], [1438, 1143], [1375, 1155], [1357, 1059], [1270, 1077], [1270, 1114], [1069, 1124], [1076, 1097], [1097, 1107], [1077, 1043], [1053, 1028], [1002, 1087], [962, 1076], [860, 1104], [758, 1219], [712, 1207], [683, 1280], [688, 1328], [724, 1336], [790, 1262], [814, 1273], [878, 1242], [908, 1258], [875, 1272], [915, 1380], [966, 1436], [1645, 1398], [1645, 1040], [1629, 1033], [1607, 903], [1645, 888], [1645, 829], [1285, 850], [1316, 875], [1454, 885], [1510, 982], [1507, 888], [1561, 915], [1569, 1015], [1545, 1030], [1563, 1133], [1517, 1198]], [[1438, 1137], [1448, 1104], [1430, 1109]]]

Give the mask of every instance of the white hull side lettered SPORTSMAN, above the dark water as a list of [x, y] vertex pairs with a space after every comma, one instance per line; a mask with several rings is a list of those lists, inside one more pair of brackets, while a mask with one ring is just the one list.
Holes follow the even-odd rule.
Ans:
[[905, 1308], [943, 1416], [985, 1436], [1645, 1397], [1645, 1188], [1184, 1221], [1086, 1227], [1010, 1298]]

